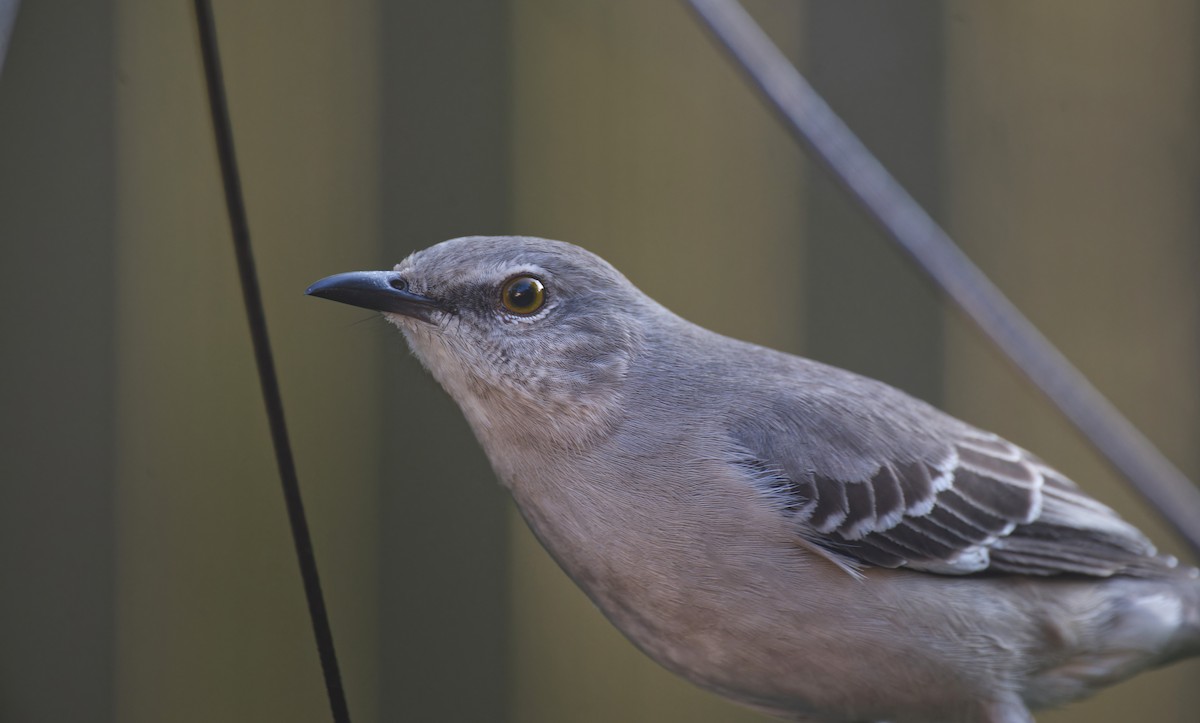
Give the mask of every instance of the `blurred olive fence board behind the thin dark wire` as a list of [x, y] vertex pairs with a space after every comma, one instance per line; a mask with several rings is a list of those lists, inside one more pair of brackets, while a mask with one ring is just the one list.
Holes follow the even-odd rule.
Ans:
[[[215, 8], [300, 484], [358, 722], [378, 719], [378, 347], [302, 292], [331, 268], [376, 261], [376, 10]], [[194, 23], [187, 4], [118, 2], [116, 718], [324, 722]], [[335, 333], [343, 343], [313, 343]]]

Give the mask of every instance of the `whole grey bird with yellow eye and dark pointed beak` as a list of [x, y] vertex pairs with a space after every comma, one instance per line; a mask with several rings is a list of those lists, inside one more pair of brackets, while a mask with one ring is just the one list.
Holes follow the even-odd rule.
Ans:
[[1196, 572], [1032, 454], [580, 247], [455, 239], [310, 293], [384, 311], [566, 574], [743, 704], [1018, 723], [1200, 655]]

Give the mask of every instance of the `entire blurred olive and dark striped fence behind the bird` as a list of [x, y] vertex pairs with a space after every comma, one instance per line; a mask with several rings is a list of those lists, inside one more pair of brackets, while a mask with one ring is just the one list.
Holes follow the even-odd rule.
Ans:
[[[326, 721], [190, 2], [25, 0], [0, 77], [0, 721]], [[1200, 478], [1200, 6], [749, 10], [1064, 353]], [[816, 172], [682, 4], [216, 2], [358, 722], [762, 719], [617, 634], [372, 315], [474, 233], [571, 240], [703, 325], [883, 378], [1178, 545]], [[713, 293], [720, 289], [720, 293]], [[1193, 723], [1200, 663], [1040, 721]]]

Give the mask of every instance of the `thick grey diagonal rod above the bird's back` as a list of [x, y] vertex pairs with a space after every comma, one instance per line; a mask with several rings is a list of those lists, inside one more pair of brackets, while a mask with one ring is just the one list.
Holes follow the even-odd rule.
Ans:
[[737, 0], [688, 0], [796, 138], [1200, 557], [1200, 489], [1043, 336], [880, 165]]

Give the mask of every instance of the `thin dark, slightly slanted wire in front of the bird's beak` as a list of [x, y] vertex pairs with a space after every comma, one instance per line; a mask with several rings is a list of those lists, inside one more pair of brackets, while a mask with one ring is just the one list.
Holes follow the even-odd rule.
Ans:
[[224, 82], [221, 74], [216, 26], [212, 22], [212, 7], [208, 0], [196, 0], [196, 23], [200, 36], [200, 54], [204, 58], [204, 78], [209, 88], [212, 132], [216, 137], [217, 156], [221, 160], [226, 208], [229, 211], [234, 252], [238, 257], [238, 274], [241, 277], [241, 294], [246, 304], [250, 335], [254, 343], [254, 362], [258, 365], [263, 404], [266, 406], [266, 418], [271, 428], [271, 442], [275, 444], [275, 461], [280, 470], [280, 482], [283, 484], [283, 500], [288, 509], [288, 521], [292, 524], [292, 542], [300, 562], [300, 576], [304, 580], [304, 592], [308, 600], [312, 632], [317, 638], [320, 669], [325, 675], [329, 707], [336, 723], [349, 723], [350, 712], [346, 704], [346, 692], [342, 689], [342, 676], [337, 668], [337, 655], [334, 651], [334, 634], [329, 626], [329, 615], [325, 611], [325, 599], [320, 592], [317, 558], [313, 555], [312, 537], [308, 534], [308, 522], [304, 514], [300, 482], [296, 478], [292, 444], [288, 441], [287, 424], [283, 419], [280, 382], [275, 375], [271, 343], [266, 335], [266, 315], [263, 311], [263, 297], [258, 286], [258, 274], [254, 270], [254, 256], [250, 246], [250, 223], [246, 220], [246, 204], [241, 196], [238, 160], [233, 149], [233, 127], [229, 124], [229, 107], [226, 102]]

